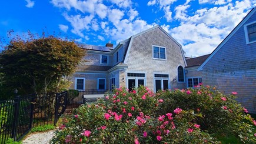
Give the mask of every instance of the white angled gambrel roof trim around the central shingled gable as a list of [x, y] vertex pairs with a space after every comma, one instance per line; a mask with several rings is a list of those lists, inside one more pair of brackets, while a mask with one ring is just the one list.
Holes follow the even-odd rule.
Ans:
[[[159, 25], [153, 26], [152, 28], [149, 28], [149, 29], [147, 29], [147, 30], [145, 30], [145, 31], [139, 32], [138, 34], [131, 36], [131, 40], [130, 40], [130, 42], [129, 42], [128, 50], [127, 50], [127, 53], [126, 53], [126, 55], [125, 55], [124, 63], [127, 63], [127, 58], [128, 58], [128, 56], [129, 56], [129, 51], [130, 51], [130, 49], [131, 49], [131, 45], [132, 45], [133, 39], [134, 39], [135, 37], [139, 36], [139, 35], [142, 35], [142, 34], [145, 34], [146, 32], [149, 32], [149, 31], [151, 31], [152, 29], [155, 29], [155, 28], [161, 29], [162, 32], [164, 32], [167, 36], [169, 36], [169, 38], [171, 38], [172, 41], [174, 41], [174, 42], [179, 46], [179, 48], [180, 48], [180, 50], [181, 50], [182, 57], [183, 57], [183, 61], [185, 62], [185, 66], [187, 66], [187, 62], [186, 62], [185, 55], [184, 55], [184, 53], [183, 53], [183, 49], [182, 49], [181, 44], [179, 44], [174, 38], [172, 38], [172, 36], [169, 35], [168, 32], [165, 31], [165, 30], [164, 30], [161, 26], [159, 26]], [[127, 40], [127, 39], [126, 39], [126, 40]]]

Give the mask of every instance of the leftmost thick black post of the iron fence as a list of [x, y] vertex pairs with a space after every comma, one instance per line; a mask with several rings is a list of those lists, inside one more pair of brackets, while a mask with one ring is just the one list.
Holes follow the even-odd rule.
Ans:
[[15, 96], [14, 99], [14, 121], [12, 123], [12, 138], [16, 140], [16, 130], [18, 126], [19, 119], [19, 103], [21, 102], [20, 96]]

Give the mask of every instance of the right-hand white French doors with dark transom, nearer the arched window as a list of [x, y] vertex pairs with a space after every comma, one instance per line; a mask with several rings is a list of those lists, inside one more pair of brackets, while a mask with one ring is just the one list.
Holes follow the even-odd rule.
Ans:
[[169, 75], [167, 74], [155, 74], [154, 75], [155, 92], [161, 89], [169, 89]]

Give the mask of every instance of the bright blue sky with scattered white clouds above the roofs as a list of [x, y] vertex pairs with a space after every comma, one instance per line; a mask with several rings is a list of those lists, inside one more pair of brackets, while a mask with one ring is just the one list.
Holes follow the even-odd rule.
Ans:
[[117, 45], [160, 25], [195, 57], [211, 53], [255, 6], [254, 0], [8, 0], [0, 5], [0, 36], [46, 29], [81, 43]]

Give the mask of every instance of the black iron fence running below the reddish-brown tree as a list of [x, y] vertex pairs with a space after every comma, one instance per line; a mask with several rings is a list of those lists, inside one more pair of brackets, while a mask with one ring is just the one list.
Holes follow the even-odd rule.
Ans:
[[103, 96], [106, 92], [95, 89], [69, 90], [16, 96], [15, 99], [0, 101], [0, 143], [5, 143], [9, 138], [19, 140], [36, 126], [56, 125], [65, 110], [78, 108], [85, 103], [87, 96], [94, 98], [94, 95]]

